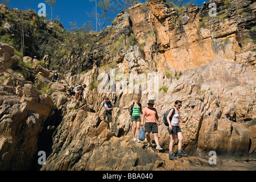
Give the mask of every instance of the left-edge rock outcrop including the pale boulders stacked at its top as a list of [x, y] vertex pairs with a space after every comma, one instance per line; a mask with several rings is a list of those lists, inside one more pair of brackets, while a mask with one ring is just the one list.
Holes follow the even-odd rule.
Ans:
[[[14, 48], [1, 45], [14, 53]], [[50, 96], [38, 92], [31, 81], [10, 69], [13, 57], [5, 60], [0, 69], [0, 168], [31, 169], [39, 133], [56, 106]]]

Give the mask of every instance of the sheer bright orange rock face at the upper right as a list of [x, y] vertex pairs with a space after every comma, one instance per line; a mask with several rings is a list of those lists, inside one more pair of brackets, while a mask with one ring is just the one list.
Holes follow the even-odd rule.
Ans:
[[[232, 3], [237, 9], [241, 6], [239, 2]], [[241, 35], [246, 34], [241, 22], [253, 18], [255, 22], [255, 3], [248, 5], [248, 9], [253, 7], [251, 15], [243, 19], [236, 11], [229, 15], [226, 6], [224, 1], [220, 2], [217, 15], [209, 16], [209, 2], [200, 8], [177, 9], [166, 1], [151, 0], [146, 5], [133, 6], [128, 12], [133, 32], [144, 45], [146, 60], [156, 61], [158, 71], [170, 68], [184, 71], [213, 60], [233, 61], [237, 55], [249, 51], [239, 46], [245, 39]], [[255, 44], [250, 47], [253, 48]]]

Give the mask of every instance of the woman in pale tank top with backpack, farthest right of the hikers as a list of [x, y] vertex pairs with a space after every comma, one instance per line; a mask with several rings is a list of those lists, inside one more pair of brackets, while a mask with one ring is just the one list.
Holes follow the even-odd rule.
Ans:
[[[168, 132], [170, 134], [170, 145], [169, 145], [169, 159], [170, 160], [177, 159], [174, 156], [174, 153], [172, 152], [172, 147], [174, 146], [174, 141], [175, 141], [176, 135], [177, 135], [177, 138], [179, 139], [177, 157], [182, 158], [182, 157], [188, 156], [187, 154], [183, 153], [181, 150], [183, 137], [182, 137], [182, 133], [181, 133], [181, 130], [179, 127], [179, 123], [180, 123], [179, 109], [180, 109], [180, 107], [181, 107], [181, 101], [179, 101], [179, 100], [175, 101], [175, 107], [172, 108], [170, 110], [169, 114], [167, 115], [167, 122], [169, 124]], [[172, 119], [170, 121], [170, 117], [173, 112], [175, 112], [175, 114], [172, 116]]]

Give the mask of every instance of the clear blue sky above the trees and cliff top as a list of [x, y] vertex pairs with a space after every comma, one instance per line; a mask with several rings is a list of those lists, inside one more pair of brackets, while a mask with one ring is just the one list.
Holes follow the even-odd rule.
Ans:
[[[184, 0], [184, 3], [189, 1], [191, 0]], [[204, 1], [208, 2], [207, 0]], [[192, 3], [201, 7], [204, 1], [193, 0]], [[38, 12], [40, 9], [38, 7], [39, 3], [44, 3], [44, 0], [10, 0], [8, 7], [9, 9], [14, 9], [16, 7], [19, 10], [31, 9]], [[91, 21], [94, 24], [93, 30], [95, 31], [95, 20], [88, 16], [88, 13], [92, 13], [94, 7], [95, 2], [90, 2], [89, 0], [56, 0], [55, 9], [53, 10], [53, 18], [58, 15], [60, 22], [66, 29], [70, 28], [69, 22], [76, 22], [78, 26], [82, 26], [84, 22]], [[51, 17], [51, 8], [48, 5], [46, 5], [46, 14], [49, 15], [49, 18]]]

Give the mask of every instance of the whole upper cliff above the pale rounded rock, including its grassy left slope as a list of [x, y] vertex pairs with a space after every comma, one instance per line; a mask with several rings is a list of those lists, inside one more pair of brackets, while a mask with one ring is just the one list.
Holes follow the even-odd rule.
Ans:
[[162, 0], [139, 3], [119, 13], [95, 41], [100, 44], [86, 63], [116, 61], [127, 73], [184, 71], [213, 60], [249, 62], [254, 68], [255, 2], [209, 1], [182, 9]]

